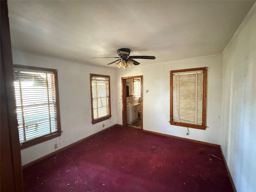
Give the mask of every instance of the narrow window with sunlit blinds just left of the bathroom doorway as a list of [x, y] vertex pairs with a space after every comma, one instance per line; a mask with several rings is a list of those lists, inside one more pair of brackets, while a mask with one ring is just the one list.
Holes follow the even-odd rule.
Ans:
[[92, 124], [111, 117], [110, 76], [90, 74]]

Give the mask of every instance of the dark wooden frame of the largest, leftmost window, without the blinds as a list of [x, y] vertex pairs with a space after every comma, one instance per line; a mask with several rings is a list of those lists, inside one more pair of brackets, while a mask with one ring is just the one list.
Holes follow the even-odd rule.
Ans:
[[54, 74], [54, 84], [55, 84], [55, 94], [56, 94], [56, 116], [57, 116], [57, 132], [52, 134], [47, 134], [41, 136], [39, 138], [35, 138], [34, 140], [30, 140], [28, 142], [22, 143], [20, 146], [21, 149], [28, 148], [34, 146], [36, 144], [45, 142], [47, 140], [59, 137], [61, 135], [61, 126], [60, 126], [60, 104], [59, 104], [59, 92], [58, 92], [58, 73], [56, 69], [49, 69], [49, 68], [41, 68], [41, 67], [34, 67], [34, 66], [24, 66], [24, 65], [13, 65], [13, 68], [20, 68], [26, 70], [38, 70], [44, 72], [53, 72]]

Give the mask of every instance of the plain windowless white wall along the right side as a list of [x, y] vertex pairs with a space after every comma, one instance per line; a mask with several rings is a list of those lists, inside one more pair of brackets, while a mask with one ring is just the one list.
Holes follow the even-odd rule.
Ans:
[[256, 14], [224, 51], [221, 146], [238, 192], [256, 191]]

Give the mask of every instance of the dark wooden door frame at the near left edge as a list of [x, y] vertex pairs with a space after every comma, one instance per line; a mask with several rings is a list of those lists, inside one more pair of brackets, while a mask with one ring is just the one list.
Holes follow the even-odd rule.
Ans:
[[14, 77], [8, 6], [1, 0], [1, 102], [0, 169], [1, 191], [22, 192], [20, 141], [14, 96]]

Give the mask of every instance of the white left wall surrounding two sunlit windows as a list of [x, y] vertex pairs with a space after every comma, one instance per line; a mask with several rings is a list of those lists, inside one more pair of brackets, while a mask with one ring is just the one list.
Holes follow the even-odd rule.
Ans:
[[[60, 149], [116, 124], [116, 78], [113, 69], [93, 67], [18, 50], [12, 51], [12, 57], [14, 64], [58, 70], [62, 134], [58, 138], [21, 150], [22, 165], [54, 152], [55, 143]], [[91, 123], [90, 73], [110, 76], [112, 118], [94, 125]], [[105, 124], [104, 128], [103, 124]]]

